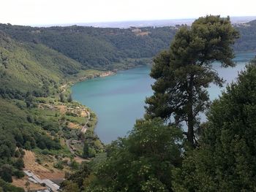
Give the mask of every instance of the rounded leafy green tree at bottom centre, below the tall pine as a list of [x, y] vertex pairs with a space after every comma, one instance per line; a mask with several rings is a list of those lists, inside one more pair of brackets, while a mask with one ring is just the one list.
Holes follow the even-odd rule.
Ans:
[[181, 164], [182, 133], [162, 120], [138, 120], [129, 137], [110, 145], [87, 191], [171, 191], [171, 174]]

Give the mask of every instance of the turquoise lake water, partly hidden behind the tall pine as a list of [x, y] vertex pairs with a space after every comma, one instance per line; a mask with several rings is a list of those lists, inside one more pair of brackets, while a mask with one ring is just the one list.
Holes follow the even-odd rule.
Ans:
[[[238, 53], [234, 68], [222, 68], [214, 64], [219, 75], [227, 82], [236, 80], [238, 72], [244, 69], [256, 53]], [[104, 143], [124, 137], [132, 129], [135, 120], [143, 118], [146, 96], [151, 96], [150, 67], [120, 71], [110, 77], [100, 77], [78, 82], [72, 86], [72, 97], [96, 112], [98, 117], [97, 135]], [[211, 99], [219, 96], [225, 88], [212, 85], [208, 89]]]

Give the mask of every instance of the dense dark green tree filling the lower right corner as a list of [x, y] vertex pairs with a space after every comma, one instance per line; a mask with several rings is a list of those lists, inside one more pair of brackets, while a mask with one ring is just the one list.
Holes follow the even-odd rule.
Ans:
[[256, 60], [214, 101], [200, 147], [176, 169], [175, 191], [255, 191]]

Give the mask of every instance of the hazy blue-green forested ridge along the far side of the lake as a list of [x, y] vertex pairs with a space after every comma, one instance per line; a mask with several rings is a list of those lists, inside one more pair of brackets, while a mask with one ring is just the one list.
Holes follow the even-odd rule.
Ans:
[[[46, 45], [78, 61], [83, 69], [115, 69], [132, 59], [133, 65], [145, 64], [141, 58], [152, 58], [170, 46], [177, 27], [94, 28], [85, 26], [30, 27], [1, 24], [0, 30], [19, 42]], [[241, 38], [235, 51], [256, 50], [254, 21], [237, 25]], [[136, 60], [134, 60], [136, 59]], [[72, 73], [75, 71], [71, 71]]]

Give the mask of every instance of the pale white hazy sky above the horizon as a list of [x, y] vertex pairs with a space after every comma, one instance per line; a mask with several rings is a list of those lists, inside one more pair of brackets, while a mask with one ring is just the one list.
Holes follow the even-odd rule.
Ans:
[[0, 0], [0, 23], [48, 25], [255, 16], [256, 0]]

